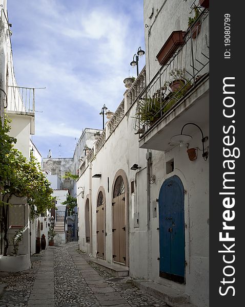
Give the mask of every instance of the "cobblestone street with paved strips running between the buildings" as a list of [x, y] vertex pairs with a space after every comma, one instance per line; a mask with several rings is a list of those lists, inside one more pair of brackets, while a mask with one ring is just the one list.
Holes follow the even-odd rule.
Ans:
[[32, 257], [25, 272], [0, 272], [6, 288], [0, 307], [159, 307], [164, 302], [97, 267], [75, 243], [48, 247]]

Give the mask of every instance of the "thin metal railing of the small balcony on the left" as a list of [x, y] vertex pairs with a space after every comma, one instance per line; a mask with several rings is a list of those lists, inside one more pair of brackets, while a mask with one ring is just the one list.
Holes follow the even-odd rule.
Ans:
[[8, 86], [8, 111], [35, 112], [35, 89]]

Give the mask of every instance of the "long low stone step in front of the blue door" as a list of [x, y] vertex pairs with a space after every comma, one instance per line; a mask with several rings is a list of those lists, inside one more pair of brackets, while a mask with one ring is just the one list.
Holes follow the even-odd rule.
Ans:
[[146, 293], [163, 300], [170, 307], [194, 307], [189, 303], [190, 296], [188, 294], [164, 286], [163, 284], [137, 279], [132, 279], [131, 283]]

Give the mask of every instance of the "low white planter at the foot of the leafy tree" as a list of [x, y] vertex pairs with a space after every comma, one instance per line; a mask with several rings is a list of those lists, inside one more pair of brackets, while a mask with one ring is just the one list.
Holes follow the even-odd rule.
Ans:
[[0, 256], [0, 271], [21, 272], [31, 268], [29, 255]]

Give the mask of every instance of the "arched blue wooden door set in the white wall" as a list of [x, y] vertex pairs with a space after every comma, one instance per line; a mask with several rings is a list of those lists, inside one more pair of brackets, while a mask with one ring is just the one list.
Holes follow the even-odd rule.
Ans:
[[159, 276], [185, 282], [184, 189], [173, 176], [162, 184], [159, 193]]

